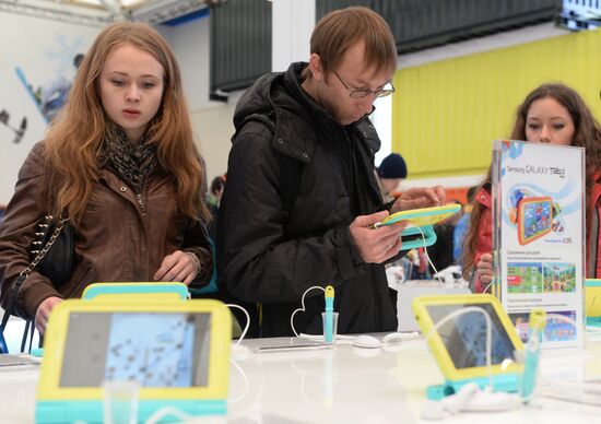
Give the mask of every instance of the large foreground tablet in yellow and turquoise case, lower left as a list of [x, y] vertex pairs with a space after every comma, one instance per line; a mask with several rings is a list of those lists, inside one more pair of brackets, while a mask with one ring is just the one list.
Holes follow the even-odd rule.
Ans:
[[103, 422], [103, 382], [140, 386], [138, 420], [163, 407], [226, 412], [232, 322], [217, 301], [89, 302], [52, 309], [36, 423]]

